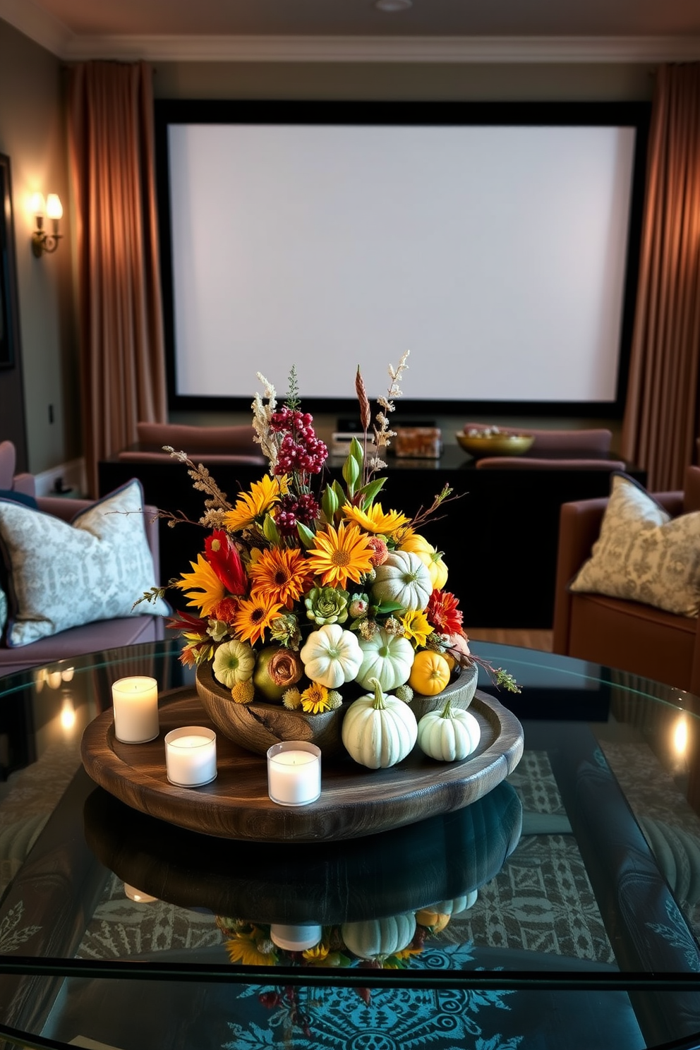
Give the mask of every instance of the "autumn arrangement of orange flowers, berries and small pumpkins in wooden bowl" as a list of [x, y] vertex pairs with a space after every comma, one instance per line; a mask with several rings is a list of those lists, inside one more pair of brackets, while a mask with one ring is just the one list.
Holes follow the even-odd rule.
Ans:
[[[253, 401], [253, 427], [269, 472], [234, 503], [204, 465], [168, 447], [205, 496], [208, 529], [190, 571], [169, 584], [188, 607], [169, 626], [184, 637], [182, 660], [211, 662], [236, 704], [261, 699], [318, 714], [340, 707], [349, 682], [409, 702], [413, 692], [439, 693], [475, 659], [459, 598], [446, 589], [443, 554], [423, 534], [451, 489], [412, 518], [380, 501], [386, 479], [378, 471], [407, 356], [389, 366], [374, 420], [358, 369], [362, 433], [342, 483], [316, 485], [327, 449], [301, 410], [294, 369], [282, 404], [258, 374], [264, 394]], [[166, 517], [170, 525], [188, 520]], [[517, 690], [505, 671], [484, 666], [497, 685]]]

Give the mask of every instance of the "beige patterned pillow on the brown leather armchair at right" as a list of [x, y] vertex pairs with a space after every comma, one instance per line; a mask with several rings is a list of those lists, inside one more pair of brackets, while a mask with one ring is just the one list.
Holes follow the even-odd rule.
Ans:
[[700, 511], [672, 519], [632, 479], [615, 475], [592, 556], [569, 589], [697, 616]]

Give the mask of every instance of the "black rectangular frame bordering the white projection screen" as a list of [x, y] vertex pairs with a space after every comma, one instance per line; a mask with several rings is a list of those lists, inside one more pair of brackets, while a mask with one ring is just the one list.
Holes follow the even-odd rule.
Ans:
[[[161, 276], [166, 348], [168, 406], [170, 411], [233, 413], [250, 410], [249, 397], [204, 397], [177, 393], [173, 309], [172, 237], [168, 127], [172, 124], [332, 124], [332, 125], [561, 125], [634, 127], [630, 223], [625, 261], [619, 368], [614, 401], [426, 401], [402, 397], [402, 416], [510, 415], [518, 417], [585, 417], [621, 419], [627, 399], [632, 349], [639, 248], [643, 215], [646, 149], [651, 119], [648, 102], [349, 102], [268, 100], [155, 101], [155, 161]], [[393, 362], [396, 364], [397, 362]], [[301, 392], [303, 395], [303, 392]], [[304, 398], [305, 410], [354, 416], [355, 398]]]

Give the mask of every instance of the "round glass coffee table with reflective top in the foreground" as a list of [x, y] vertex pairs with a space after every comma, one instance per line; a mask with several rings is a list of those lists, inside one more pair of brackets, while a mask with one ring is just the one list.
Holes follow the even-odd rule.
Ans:
[[698, 701], [474, 649], [523, 687], [480, 681], [523, 726], [514, 772], [455, 812], [301, 844], [201, 835], [87, 776], [113, 681], [194, 694], [175, 642], [0, 679], [0, 1040], [700, 1047]]

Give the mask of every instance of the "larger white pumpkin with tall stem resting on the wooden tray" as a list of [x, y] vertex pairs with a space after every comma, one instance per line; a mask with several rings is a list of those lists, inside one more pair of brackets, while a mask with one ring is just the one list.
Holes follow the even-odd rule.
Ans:
[[351, 758], [370, 770], [385, 770], [410, 754], [418, 735], [416, 715], [407, 704], [382, 692], [372, 679], [374, 695], [351, 704], [341, 730]]

